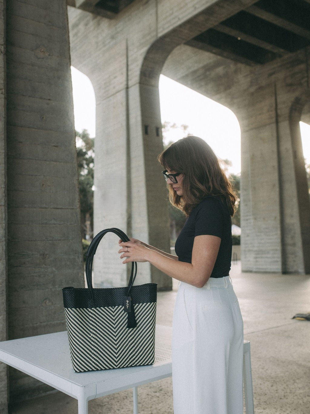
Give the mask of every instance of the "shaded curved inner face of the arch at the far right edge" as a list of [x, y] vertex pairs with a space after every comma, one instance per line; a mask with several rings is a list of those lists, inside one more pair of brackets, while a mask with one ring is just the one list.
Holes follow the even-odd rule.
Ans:
[[310, 89], [304, 91], [294, 99], [289, 113], [293, 168], [298, 202], [304, 272], [306, 274], [310, 273], [310, 200], [299, 121], [301, 120], [303, 108], [309, 102]]

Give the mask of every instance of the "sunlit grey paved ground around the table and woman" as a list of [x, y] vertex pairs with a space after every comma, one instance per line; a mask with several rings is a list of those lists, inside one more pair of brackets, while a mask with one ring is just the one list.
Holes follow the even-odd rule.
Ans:
[[[310, 312], [310, 277], [241, 273], [232, 265], [232, 281], [251, 342], [256, 414], [310, 413], [310, 322], [292, 320]], [[157, 323], [171, 325], [177, 283], [158, 294]], [[89, 402], [89, 414], [132, 412], [131, 390]], [[76, 414], [77, 401], [60, 392], [12, 406], [11, 414]], [[172, 414], [171, 378], [139, 387], [140, 414]], [[191, 413], [188, 413], [191, 414]]]

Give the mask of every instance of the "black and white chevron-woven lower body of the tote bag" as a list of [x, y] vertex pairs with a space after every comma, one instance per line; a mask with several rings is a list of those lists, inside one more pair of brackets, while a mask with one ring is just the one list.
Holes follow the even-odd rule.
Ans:
[[134, 308], [137, 326], [131, 329], [123, 306], [65, 308], [74, 371], [154, 363], [156, 302]]

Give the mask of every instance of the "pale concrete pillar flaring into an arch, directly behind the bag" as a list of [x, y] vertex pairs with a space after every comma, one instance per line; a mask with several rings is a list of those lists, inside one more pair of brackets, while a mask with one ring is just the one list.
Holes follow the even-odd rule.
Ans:
[[[91, 79], [97, 103], [95, 233], [103, 226], [118, 226], [133, 237], [169, 249], [168, 209], [163, 202], [166, 186], [158, 180], [156, 161], [162, 150], [159, 75], [173, 48], [241, 10], [245, 3], [253, 0], [234, 5], [227, 0], [197, 0], [182, 8], [174, 4], [171, 19], [171, 9], [164, 3], [137, 1], [122, 20], [109, 23], [69, 7], [71, 63]], [[111, 175], [119, 177], [117, 185], [109, 182]], [[110, 253], [113, 257], [112, 248]], [[100, 270], [105, 259], [96, 260], [97, 286], [124, 283], [128, 272], [126, 276], [117, 267], [118, 258], [109, 264], [117, 270], [108, 279]], [[148, 264], [139, 268], [140, 280], [157, 282], [159, 289], [170, 288], [170, 278], [158, 270]]]

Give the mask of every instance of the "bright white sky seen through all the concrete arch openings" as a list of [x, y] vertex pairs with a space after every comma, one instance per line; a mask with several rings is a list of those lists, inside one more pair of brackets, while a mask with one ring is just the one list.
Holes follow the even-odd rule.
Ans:
[[[79, 132], [86, 129], [95, 137], [94, 89], [90, 79], [74, 67], [71, 74], [75, 128]], [[208, 142], [218, 157], [232, 161], [230, 172], [240, 172], [240, 127], [230, 109], [163, 75], [159, 79], [159, 95], [162, 123], [188, 125], [188, 132]], [[304, 156], [310, 163], [310, 125], [300, 125]], [[182, 137], [180, 129], [166, 133], [168, 142]]]

